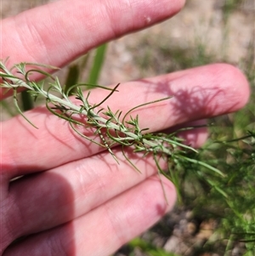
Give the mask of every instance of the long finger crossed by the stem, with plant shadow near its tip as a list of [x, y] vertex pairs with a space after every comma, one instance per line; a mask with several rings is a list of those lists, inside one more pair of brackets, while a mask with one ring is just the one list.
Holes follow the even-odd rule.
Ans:
[[[241, 71], [224, 64], [127, 82], [118, 90], [119, 93], [113, 94], [103, 105], [109, 105], [113, 112], [121, 110], [125, 113], [135, 105], [173, 96], [170, 100], [146, 105], [132, 112], [133, 117], [139, 114], [140, 127], [150, 128], [150, 132], [237, 111], [249, 97], [249, 86]], [[105, 96], [105, 91], [94, 90], [91, 104], [98, 103]], [[6, 178], [54, 168], [102, 150], [99, 145], [82, 139], [68, 122], [49, 114], [45, 108], [26, 112], [26, 117], [39, 129], [31, 127], [21, 117], [2, 123], [5, 151], [1, 154]], [[95, 138], [91, 130], [84, 133], [99, 142], [100, 138]], [[42, 149], [47, 149], [47, 152]]]

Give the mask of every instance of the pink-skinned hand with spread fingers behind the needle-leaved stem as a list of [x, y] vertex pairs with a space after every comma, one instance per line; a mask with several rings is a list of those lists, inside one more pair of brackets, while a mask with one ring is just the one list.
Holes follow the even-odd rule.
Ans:
[[[1, 59], [63, 66], [100, 43], [171, 17], [183, 4], [62, 0], [31, 9], [3, 20]], [[92, 100], [103, 94], [94, 90]], [[137, 111], [142, 127], [157, 131], [237, 111], [249, 88], [241, 71], [215, 64], [122, 83], [107, 105], [125, 112], [169, 95], [174, 98]], [[173, 184], [161, 178], [167, 204], [150, 156], [130, 153], [139, 174], [117, 147], [120, 165], [44, 107], [26, 117], [39, 129], [21, 117], [1, 127], [1, 255], [109, 255], [173, 208]], [[207, 133], [183, 136], [199, 146]]]

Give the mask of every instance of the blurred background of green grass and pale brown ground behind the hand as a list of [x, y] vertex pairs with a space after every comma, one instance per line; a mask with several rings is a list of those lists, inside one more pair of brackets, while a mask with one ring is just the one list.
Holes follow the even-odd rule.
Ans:
[[[1, 0], [2, 18], [48, 2], [54, 1]], [[194, 156], [220, 168], [226, 178], [202, 179], [195, 166], [176, 168], [179, 200], [173, 213], [116, 256], [255, 255], [254, 17], [254, 0], [187, 0], [173, 19], [94, 49], [59, 72], [65, 83], [109, 85], [227, 62], [251, 84], [250, 103], [210, 120], [210, 139]], [[22, 97], [24, 110], [29, 109], [30, 100]], [[2, 106], [2, 119], [15, 115], [8, 101]]]

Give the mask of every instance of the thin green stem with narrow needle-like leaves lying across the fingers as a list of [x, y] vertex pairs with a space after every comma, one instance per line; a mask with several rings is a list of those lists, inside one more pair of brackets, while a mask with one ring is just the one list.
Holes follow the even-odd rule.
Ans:
[[[26, 71], [28, 65], [32, 65], [32, 69]], [[109, 94], [98, 104], [91, 104], [90, 94], [93, 93], [93, 91], [89, 90], [87, 93], [82, 92], [83, 86], [89, 86], [91, 88], [91, 84], [75, 84], [66, 91], [60, 85], [58, 77], [53, 77], [48, 72], [42, 71], [42, 67], [47, 66], [33, 63], [20, 63], [18, 65], [14, 65], [13, 68], [8, 70], [6, 65], [0, 61], [0, 77], [2, 77], [2, 82], [0, 84], [1, 88], [6, 88], [7, 90], [13, 89], [14, 105], [22, 117], [26, 118], [26, 116], [20, 110], [17, 100], [19, 88], [25, 88], [35, 100], [37, 100], [38, 97], [44, 98], [46, 100], [46, 107], [48, 108], [48, 111], [69, 122], [71, 128], [77, 134], [82, 136], [82, 138], [88, 139], [107, 149], [111, 153], [111, 156], [113, 156], [115, 159], [116, 156], [114, 155], [113, 151], [111, 151], [111, 147], [113, 145], [122, 145], [123, 155], [125, 156], [127, 162], [130, 162], [134, 168], [136, 167], [124, 153], [125, 147], [132, 147], [133, 152], [143, 152], [144, 156], [152, 154], [154, 156], [158, 172], [167, 176], [168, 179], [173, 179], [171, 172], [166, 174], [163, 172], [163, 170], [161, 170], [158, 158], [163, 157], [164, 159], [167, 159], [168, 162], [182, 161], [190, 162], [191, 164], [199, 164], [203, 168], [210, 169], [214, 174], [224, 176], [224, 174], [221, 173], [217, 168], [213, 168], [205, 162], [200, 162], [194, 158], [190, 158], [188, 152], [197, 151], [195, 151], [195, 149], [189, 145], [184, 145], [182, 139], [179, 139], [176, 136], [176, 133], [148, 133], [149, 128], [142, 129], [139, 127], [139, 116], [137, 115], [136, 117], [132, 117], [131, 115], [132, 111], [138, 109], [139, 107], [154, 104], [162, 100], [170, 100], [172, 96], [147, 102], [142, 105], [137, 105], [122, 115], [122, 111], [118, 110], [113, 112], [110, 106], [107, 106], [106, 109], [101, 107], [106, 100], [111, 98], [112, 94], [118, 92], [117, 89], [119, 84], [117, 84], [115, 88], [105, 88], [103, 86], [94, 85], [94, 88], [109, 90]], [[49, 68], [53, 67], [50, 66]], [[48, 82], [47, 88], [44, 86], [45, 82], [36, 82], [31, 80], [31, 74], [35, 72], [51, 79], [51, 82]], [[74, 88], [76, 88], [76, 92], [71, 93], [74, 91]], [[76, 103], [73, 100], [74, 98], [70, 97], [71, 95], [76, 99]], [[85, 117], [85, 121], [79, 121], [79, 117]], [[27, 118], [26, 121], [32, 124], [32, 122]], [[36, 127], [34, 124], [32, 125]], [[82, 134], [82, 132], [79, 131], [79, 127], [81, 126], [84, 128], [94, 128], [94, 134], [99, 136], [101, 142], [99, 143], [96, 140]], [[117, 159], [116, 162], [118, 162]]]

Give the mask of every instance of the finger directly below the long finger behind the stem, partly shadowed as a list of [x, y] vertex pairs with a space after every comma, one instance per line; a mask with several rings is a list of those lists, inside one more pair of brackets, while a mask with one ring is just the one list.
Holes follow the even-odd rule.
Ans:
[[[156, 174], [152, 156], [120, 148], [69, 162], [58, 168], [16, 179], [8, 187], [2, 221], [5, 245], [19, 238], [62, 225]], [[166, 163], [161, 163], [166, 168]]]

